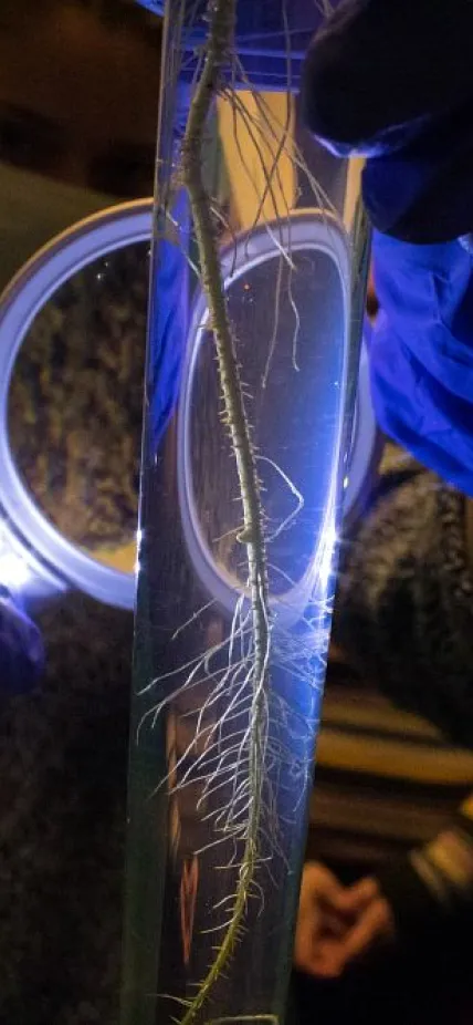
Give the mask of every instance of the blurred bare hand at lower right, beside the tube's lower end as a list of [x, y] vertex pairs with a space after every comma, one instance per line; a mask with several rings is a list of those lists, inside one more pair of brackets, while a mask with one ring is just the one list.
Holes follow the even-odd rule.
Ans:
[[345, 888], [325, 866], [305, 866], [294, 946], [299, 971], [335, 979], [393, 934], [391, 910], [375, 879]]

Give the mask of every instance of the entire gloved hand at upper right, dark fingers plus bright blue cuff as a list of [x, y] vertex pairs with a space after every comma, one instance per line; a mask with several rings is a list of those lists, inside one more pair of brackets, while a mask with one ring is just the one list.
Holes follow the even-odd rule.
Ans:
[[382, 314], [380, 426], [473, 495], [473, 2], [348, 0], [307, 55], [303, 108], [364, 154]]

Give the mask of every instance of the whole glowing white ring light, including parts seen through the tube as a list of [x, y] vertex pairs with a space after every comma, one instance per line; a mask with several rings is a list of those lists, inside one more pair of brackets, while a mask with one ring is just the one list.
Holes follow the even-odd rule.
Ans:
[[[335, 232], [330, 229], [330, 240], [327, 241], [326, 215], [324, 224], [324, 228], [320, 224], [317, 227], [314, 210], [296, 213], [291, 228], [293, 248], [314, 249], [328, 246], [334, 253], [334, 240], [338, 237], [339, 229]], [[13, 592], [21, 592], [27, 603], [50, 600], [61, 591], [75, 588], [117, 608], [134, 607], [134, 573], [101, 563], [69, 541], [43, 515], [27, 489], [9, 445], [8, 395], [17, 354], [30, 325], [61, 284], [101, 257], [135, 242], [150, 241], [151, 231], [151, 199], [126, 203], [104, 210], [75, 225], [41, 249], [15, 276], [0, 298], [0, 583], [10, 587]], [[336, 246], [335, 251], [338, 251]], [[242, 244], [239, 248], [236, 267], [234, 247], [231, 253], [228, 253], [227, 263], [224, 262], [228, 284], [234, 282], [251, 267], [259, 266], [274, 255], [274, 244], [271, 244], [265, 229], [256, 230], [250, 240], [245, 237], [244, 246]], [[341, 260], [340, 267], [345, 267], [346, 252], [341, 252], [341, 248], [337, 259]], [[230, 268], [233, 270], [232, 276]], [[189, 381], [189, 373], [195, 365], [203, 337], [204, 322], [206, 302], [200, 293], [193, 307], [187, 346], [185, 382]], [[351, 474], [346, 499], [348, 514], [358, 503], [376, 449], [377, 431], [367, 376], [367, 352], [364, 346]], [[183, 389], [181, 413], [186, 408], [188, 391], [188, 387]], [[180, 415], [179, 424], [182, 423]], [[179, 429], [181, 514], [190, 553], [196, 559], [197, 571], [203, 573], [202, 582], [209, 580], [210, 572], [212, 586], [218, 589], [223, 604], [230, 608], [234, 603], [234, 589], [230, 580], [222, 578], [210, 552], [206, 553], [206, 542], [196, 522], [192, 501], [189, 500], [189, 488], [183, 484], [183, 467], [189, 472], [189, 452], [182, 426]]]

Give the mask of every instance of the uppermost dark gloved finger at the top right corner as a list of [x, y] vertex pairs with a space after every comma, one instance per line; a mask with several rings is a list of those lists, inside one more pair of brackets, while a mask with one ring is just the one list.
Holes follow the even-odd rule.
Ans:
[[345, 0], [307, 55], [306, 123], [369, 153], [365, 144], [392, 126], [462, 103], [472, 63], [471, 0]]

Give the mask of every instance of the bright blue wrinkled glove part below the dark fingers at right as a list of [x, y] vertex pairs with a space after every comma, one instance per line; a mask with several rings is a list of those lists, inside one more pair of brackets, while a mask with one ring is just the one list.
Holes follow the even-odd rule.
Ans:
[[473, 496], [472, 257], [458, 242], [374, 237], [381, 315], [371, 340], [380, 426]]

